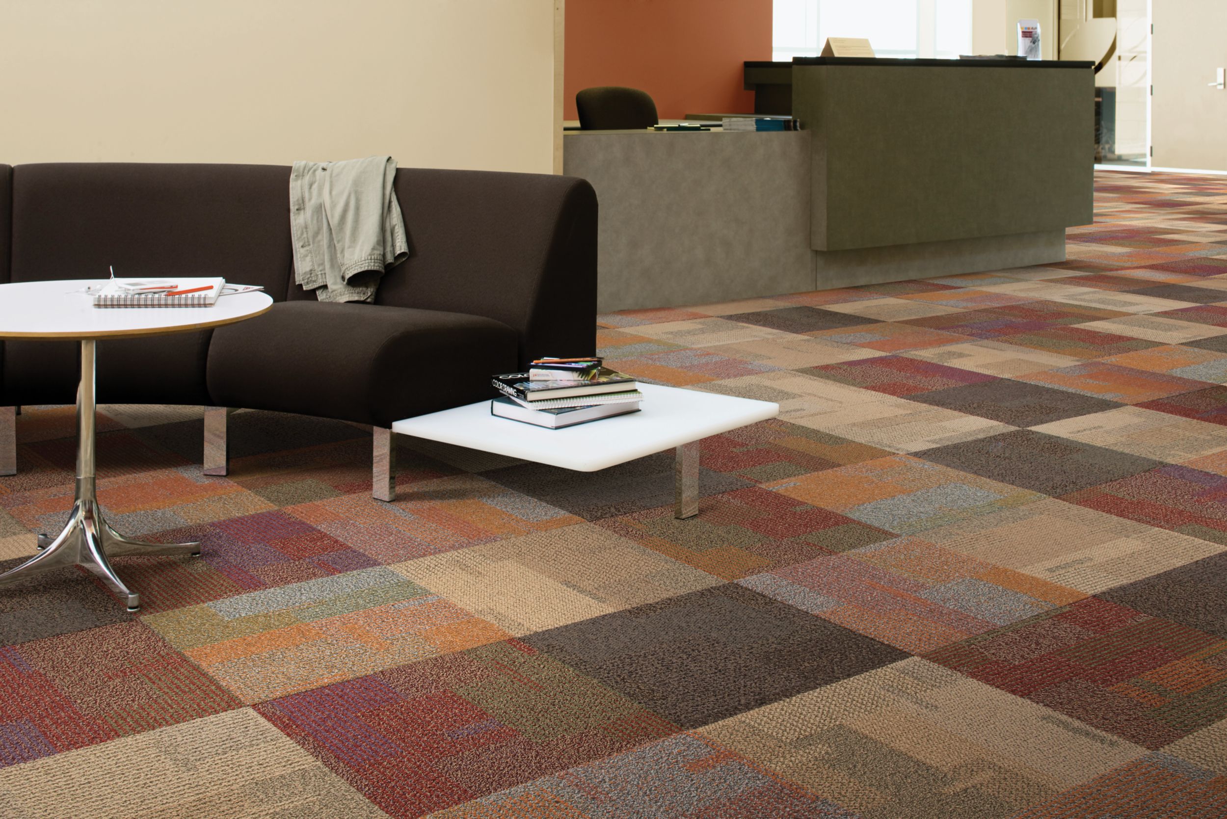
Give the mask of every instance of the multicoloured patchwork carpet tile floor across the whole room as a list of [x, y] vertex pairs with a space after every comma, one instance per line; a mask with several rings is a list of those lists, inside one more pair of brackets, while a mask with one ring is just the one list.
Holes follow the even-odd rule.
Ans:
[[[580, 474], [102, 407], [98, 494], [200, 558], [0, 591], [0, 817], [1227, 817], [1227, 185], [1099, 173], [1059, 264], [600, 316], [775, 401]], [[509, 427], [510, 430], [510, 427]], [[18, 418], [0, 569], [71, 504]], [[514, 432], [514, 430], [510, 430]]]

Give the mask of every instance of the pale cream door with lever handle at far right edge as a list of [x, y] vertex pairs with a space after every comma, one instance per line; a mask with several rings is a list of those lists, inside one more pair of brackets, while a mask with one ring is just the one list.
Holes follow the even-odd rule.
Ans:
[[1151, 141], [1162, 168], [1227, 170], [1227, 91], [1212, 88], [1227, 67], [1227, 2], [1161, 0], [1151, 6]]

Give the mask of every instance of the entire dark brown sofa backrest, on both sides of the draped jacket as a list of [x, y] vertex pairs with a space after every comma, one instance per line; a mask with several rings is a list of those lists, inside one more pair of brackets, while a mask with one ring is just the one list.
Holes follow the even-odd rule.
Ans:
[[[55, 163], [12, 168], [12, 281], [225, 276], [275, 300], [293, 282], [290, 167]], [[595, 352], [596, 195], [582, 179], [401, 168], [411, 254], [378, 304], [503, 321], [520, 358]], [[2, 219], [5, 224], [10, 219]], [[2, 237], [0, 237], [2, 240]]]

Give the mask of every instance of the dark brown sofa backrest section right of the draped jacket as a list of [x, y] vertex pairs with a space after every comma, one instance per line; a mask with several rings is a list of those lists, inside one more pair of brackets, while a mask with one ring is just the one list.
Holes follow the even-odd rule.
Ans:
[[396, 173], [410, 257], [378, 304], [470, 313], [520, 332], [521, 362], [590, 356], [596, 320], [596, 194], [547, 174]]

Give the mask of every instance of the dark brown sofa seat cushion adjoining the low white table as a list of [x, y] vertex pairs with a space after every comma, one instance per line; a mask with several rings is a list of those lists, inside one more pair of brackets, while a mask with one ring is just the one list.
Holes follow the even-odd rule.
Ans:
[[375, 304], [285, 302], [213, 330], [207, 383], [223, 407], [390, 427], [492, 397], [518, 337], [482, 316]]

